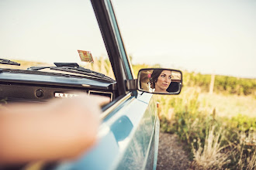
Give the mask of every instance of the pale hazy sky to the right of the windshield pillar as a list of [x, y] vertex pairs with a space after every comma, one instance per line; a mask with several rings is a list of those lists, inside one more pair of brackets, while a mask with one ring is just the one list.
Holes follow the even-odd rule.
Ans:
[[115, 1], [134, 63], [256, 77], [256, 1]]

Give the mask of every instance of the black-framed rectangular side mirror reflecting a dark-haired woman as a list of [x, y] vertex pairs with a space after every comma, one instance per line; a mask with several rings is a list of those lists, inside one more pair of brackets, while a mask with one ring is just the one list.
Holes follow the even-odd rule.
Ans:
[[142, 69], [138, 73], [138, 90], [148, 93], [178, 94], [182, 90], [182, 72], [171, 69]]

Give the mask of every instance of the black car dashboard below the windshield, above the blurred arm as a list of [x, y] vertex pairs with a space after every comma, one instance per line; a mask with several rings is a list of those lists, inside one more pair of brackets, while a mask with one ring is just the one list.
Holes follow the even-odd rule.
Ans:
[[116, 81], [65, 73], [31, 70], [0, 70], [2, 102], [43, 102], [56, 97], [74, 97], [77, 93], [116, 97]]

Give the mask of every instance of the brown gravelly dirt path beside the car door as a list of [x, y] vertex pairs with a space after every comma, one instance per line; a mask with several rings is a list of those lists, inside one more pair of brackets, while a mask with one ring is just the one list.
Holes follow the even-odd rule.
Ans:
[[188, 153], [183, 150], [178, 137], [175, 134], [160, 132], [157, 170], [183, 170], [189, 169], [189, 165]]

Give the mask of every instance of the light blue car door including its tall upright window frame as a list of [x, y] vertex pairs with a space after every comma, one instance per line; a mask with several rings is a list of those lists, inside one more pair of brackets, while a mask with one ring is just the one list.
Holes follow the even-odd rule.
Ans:
[[159, 119], [153, 94], [127, 90], [133, 70], [109, 0], [92, 0], [102, 32], [119, 97], [103, 108], [99, 141], [75, 162], [56, 169], [155, 169]]

